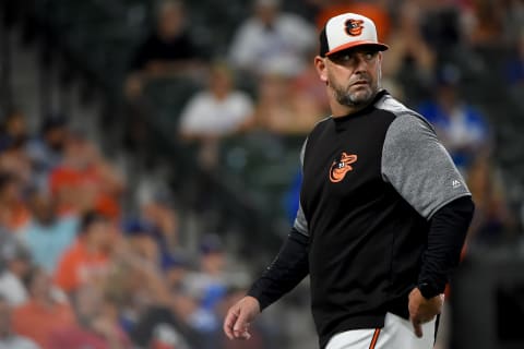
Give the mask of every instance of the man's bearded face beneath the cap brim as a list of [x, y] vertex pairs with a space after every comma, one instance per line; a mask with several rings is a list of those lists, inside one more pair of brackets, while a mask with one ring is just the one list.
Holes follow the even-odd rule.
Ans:
[[374, 49], [355, 48], [324, 58], [321, 79], [333, 98], [348, 107], [367, 105], [379, 91], [382, 56]]

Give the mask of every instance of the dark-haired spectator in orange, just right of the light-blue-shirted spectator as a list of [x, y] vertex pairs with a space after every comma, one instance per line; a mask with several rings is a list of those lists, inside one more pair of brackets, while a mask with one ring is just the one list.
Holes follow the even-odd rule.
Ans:
[[55, 273], [56, 284], [73, 293], [86, 284], [99, 284], [109, 272], [110, 222], [96, 212], [82, 216], [76, 241], [66, 250]]

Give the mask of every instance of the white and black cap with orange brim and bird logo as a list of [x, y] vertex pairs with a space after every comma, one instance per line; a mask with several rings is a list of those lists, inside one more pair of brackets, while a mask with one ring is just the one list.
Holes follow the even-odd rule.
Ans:
[[371, 46], [378, 51], [389, 48], [379, 43], [373, 21], [357, 13], [348, 12], [331, 17], [320, 33], [321, 57], [357, 46]]

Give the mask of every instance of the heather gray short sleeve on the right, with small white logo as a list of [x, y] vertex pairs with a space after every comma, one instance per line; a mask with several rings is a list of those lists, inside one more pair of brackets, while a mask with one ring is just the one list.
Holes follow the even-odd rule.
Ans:
[[382, 176], [422, 217], [471, 195], [451, 156], [422, 119], [404, 115], [388, 129]]

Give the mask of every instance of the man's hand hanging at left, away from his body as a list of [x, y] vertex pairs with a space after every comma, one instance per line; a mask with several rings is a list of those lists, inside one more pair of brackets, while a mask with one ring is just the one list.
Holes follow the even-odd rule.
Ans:
[[249, 326], [260, 314], [259, 301], [247, 296], [233, 305], [224, 320], [224, 333], [229, 339], [249, 339]]

